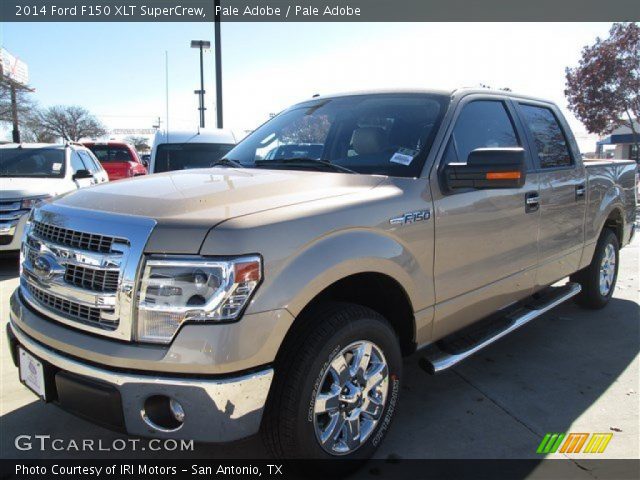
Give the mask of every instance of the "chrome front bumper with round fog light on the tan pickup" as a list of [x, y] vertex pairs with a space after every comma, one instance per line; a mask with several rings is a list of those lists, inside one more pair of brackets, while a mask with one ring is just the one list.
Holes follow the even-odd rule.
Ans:
[[[273, 379], [271, 368], [224, 378], [115, 371], [51, 350], [31, 339], [13, 322], [7, 332], [14, 358], [20, 346], [44, 362], [48, 376], [45, 383], [50, 385], [47, 397], [90, 421], [121, 428], [131, 435], [215, 443], [245, 438], [260, 428]], [[145, 402], [155, 395], [180, 402], [184, 422], [179, 428], [169, 431], [145, 421]], [[104, 408], [98, 408], [100, 405]], [[96, 410], [112, 413], [107, 419], [94, 418]]]

